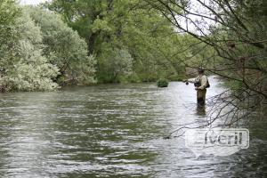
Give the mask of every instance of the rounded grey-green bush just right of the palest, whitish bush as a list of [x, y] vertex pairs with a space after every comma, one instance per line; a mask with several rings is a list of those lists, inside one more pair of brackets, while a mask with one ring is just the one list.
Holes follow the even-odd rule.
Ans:
[[87, 85], [95, 82], [93, 55], [87, 56], [85, 40], [76, 31], [69, 28], [58, 15], [28, 7], [31, 18], [41, 28], [44, 44], [44, 55], [60, 68], [60, 83]]

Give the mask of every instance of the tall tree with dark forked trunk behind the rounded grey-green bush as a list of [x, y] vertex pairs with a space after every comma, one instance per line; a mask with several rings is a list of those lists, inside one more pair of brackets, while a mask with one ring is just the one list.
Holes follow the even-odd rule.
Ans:
[[98, 30], [93, 30], [93, 24], [109, 10], [112, 2], [112, 0], [68, 2], [54, 0], [52, 4], [48, 4], [48, 7], [55, 12], [60, 12], [69, 26], [77, 30], [80, 36], [85, 37], [90, 55], [95, 50], [95, 43], [100, 33]]

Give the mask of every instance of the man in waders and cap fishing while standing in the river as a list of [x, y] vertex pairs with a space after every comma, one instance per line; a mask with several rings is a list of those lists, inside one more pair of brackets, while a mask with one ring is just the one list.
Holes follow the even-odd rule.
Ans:
[[193, 83], [195, 85], [195, 89], [197, 90], [197, 101], [199, 105], [205, 105], [206, 101], [206, 88], [209, 87], [209, 83], [206, 75], [204, 74], [203, 69], [198, 69], [198, 77], [190, 78], [185, 80], [188, 85], [188, 82]]

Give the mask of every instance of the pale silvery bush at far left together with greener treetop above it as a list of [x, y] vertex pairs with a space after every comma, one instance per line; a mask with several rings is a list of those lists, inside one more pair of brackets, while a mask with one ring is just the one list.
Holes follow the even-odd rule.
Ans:
[[43, 55], [41, 30], [12, 1], [2, 1], [1, 90], [54, 90], [58, 68]]

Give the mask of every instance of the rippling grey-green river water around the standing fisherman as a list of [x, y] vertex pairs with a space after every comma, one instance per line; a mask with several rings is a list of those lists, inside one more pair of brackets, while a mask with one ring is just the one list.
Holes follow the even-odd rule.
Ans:
[[[207, 97], [223, 91], [209, 78]], [[0, 94], [0, 177], [264, 177], [266, 121], [250, 147], [196, 158], [182, 137], [163, 137], [203, 120], [192, 85], [97, 85], [52, 93]]]

